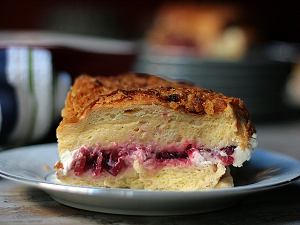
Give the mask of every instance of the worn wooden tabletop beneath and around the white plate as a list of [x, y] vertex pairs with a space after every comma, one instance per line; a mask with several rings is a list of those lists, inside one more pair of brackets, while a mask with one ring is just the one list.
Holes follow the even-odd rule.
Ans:
[[[300, 160], [300, 120], [257, 125], [259, 147]], [[300, 171], [299, 171], [300, 173]], [[300, 181], [261, 191], [232, 207], [183, 216], [116, 215], [72, 208], [42, 190], [0, 178], [0, 224], [300, 224]]]

